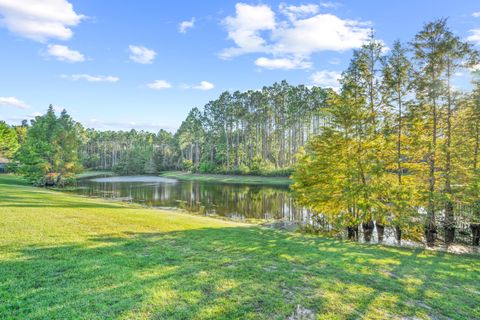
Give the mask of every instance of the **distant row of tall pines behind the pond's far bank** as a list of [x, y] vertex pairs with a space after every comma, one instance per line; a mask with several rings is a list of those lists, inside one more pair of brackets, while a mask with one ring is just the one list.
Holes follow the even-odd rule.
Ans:
[[203, 111], [192, 109], [175, 134], [88, 129], [83, 164], [126, 174], [180, 169], [288, 176], [300, 148], [329, 122], [328, 91], [282, 81], [224, 92]]

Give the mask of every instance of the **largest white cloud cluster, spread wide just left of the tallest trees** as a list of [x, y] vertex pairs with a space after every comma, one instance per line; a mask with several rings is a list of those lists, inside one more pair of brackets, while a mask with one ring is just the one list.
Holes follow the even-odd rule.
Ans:
[[270, 69], [277, 65], [285, 69], [285, 65], [291, 66], [292, 61], [302, 61], [291, 68], [302, 69], [310, 64], [310, 56], [316, 52], [359, 48], [368, 39], [371, 23], [320, 13], [319, 6], [327, 5], [281, 4], [277, 16], [268, 5], [237, 3], [235, 15], [223, 20], [228, 38], [236, 46], [224, 49], [220, 57], [271, 54], [274, 58], [260, 58], [256, 64]]

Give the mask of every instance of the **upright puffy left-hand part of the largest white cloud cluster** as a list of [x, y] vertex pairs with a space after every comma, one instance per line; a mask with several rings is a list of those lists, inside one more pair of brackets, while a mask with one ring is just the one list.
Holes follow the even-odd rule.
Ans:
[[249, 52], [265, 51], [265, 40], [260, 31], [275, 28], [275, 13], [267, 5], [251, 6], [244, 3], [235, 5], [234, 17], [226, 17], [228, 38], [237, 45], [236, 48], [225, 49], [221, 56], [231, 58]]

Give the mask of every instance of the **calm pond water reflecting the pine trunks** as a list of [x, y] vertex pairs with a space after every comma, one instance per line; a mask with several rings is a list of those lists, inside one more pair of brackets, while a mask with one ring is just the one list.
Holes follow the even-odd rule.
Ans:
[[155, 176], [79, 180], [77, 194], [131, 201], [149, 207], [180, 208], [234, 220], [308, 222], [288, 186], [180, 181]]

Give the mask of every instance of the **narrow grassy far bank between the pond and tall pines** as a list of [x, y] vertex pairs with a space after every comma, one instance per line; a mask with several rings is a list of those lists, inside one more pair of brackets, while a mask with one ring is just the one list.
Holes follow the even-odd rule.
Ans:
[[236, 176], [224, 174], [200, 174], [182, 171], [168, 171], [161, 174], [162, 177], [175, 178], [179, 180], [194, 180], [205, 182], [221, 182], [236, 184], [265, 184], [288, 186], [291, 180], [287, 177], [260, 177], [260, 176]]

